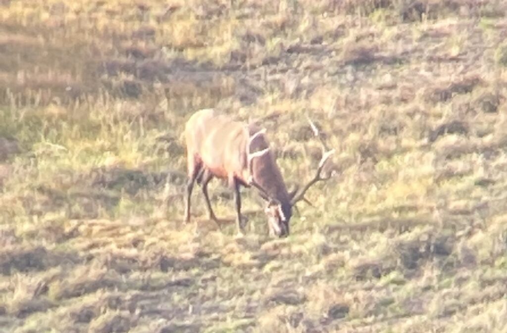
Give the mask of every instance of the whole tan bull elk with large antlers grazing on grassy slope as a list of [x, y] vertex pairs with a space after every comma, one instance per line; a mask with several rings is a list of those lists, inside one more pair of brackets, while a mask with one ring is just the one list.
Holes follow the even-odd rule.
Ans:
[[[308, 118], [315, 136], [318, 130]], [[288, 192], [275, 156], [266, 138], [266, 129], [245, 123], [214, 109], [195, 112], [185, 125], [188, 182], [186, 185], [185, 223], [190, 221], [190, 199], [195, 182], [201, 185], [210, 220], [218, 223], [208, 196], [208, 183], [215, 177], [227, 180], [234, 190], [238, 235], [244, 235], [240, 187], [255, 187], [265, 200], [269, 233], [279, 238], [289, 235], [289, 220], [294, 205], [305, 200], [306, 191], [316, 182], [331, 178], [321, 175], [324, 164], [334, 153], [322, 143], [322, 158], [315, 176], [300, 190]]]

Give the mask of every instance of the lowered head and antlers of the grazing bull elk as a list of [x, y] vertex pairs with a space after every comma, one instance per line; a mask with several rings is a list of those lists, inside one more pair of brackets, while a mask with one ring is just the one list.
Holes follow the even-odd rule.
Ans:
[[251, 153], [250, 152], [250, 144], [261, 134], [264, 134], [266, 132], [266, 129], [263, 128], [260, 131], [258, 131], [256, 134], [250, 137], [250, 139], [247, 141], [246, 145], [246, 153], [247, 153], [247, 163], [248, 163], [248, 169], [249, 169], [249, 179], [248, 183], [249, 185], [257, 188], [259, 190], [259, 194], [266, 202], [266, 207], [264, 209], [264, 212], [266, 213], [267, 219], [268, 219], [268, 226], [269, 226], [269, 232], [270, 235], [275, 235], [277, 237], [286, 237], [289, 235], [289, 220], [292, 216], [292, 208], [299, 202], [299, 201], [305, 201], [308, 204], [311, 205], [311, 203], [306, 199], [305, 194], [308, 191], [308, 189], [313, 186], [315, 183], [319, 181], [325, 181], [330, 179], [333, 174], [330, 174], [329, 176], [322, 176], [322, 170], [331, 157], [335, 153], [334, 149], [329, 150], [327, 146], [325, 145], [324, 141], [322, 140], [320, 136], [320, 132], [315, 126], [315, 124], [308, 118], [308, 122], [310, 123], [310, 126], [313, 130], [313, 134], [315, 137], [317, 137], [322, 145], [322, 157], [318, 163], [318, 167], [316, 170], [315, 175], [310, 179], [308, 183], [306, 183], [301, 188], [297, 187], [294, 191], [287, 193], [288, 194], [288, 201], [287, 202], [281, 202], [279, 199], [273, 197], [266, 191], [259, 183], [257, 183], [253, 179], [253, 168], [252, 168], [252, 161], [256, 157], [260, 157], [266, 153], [269, 152], [270, 148], [263, 149], [258, 152]]

